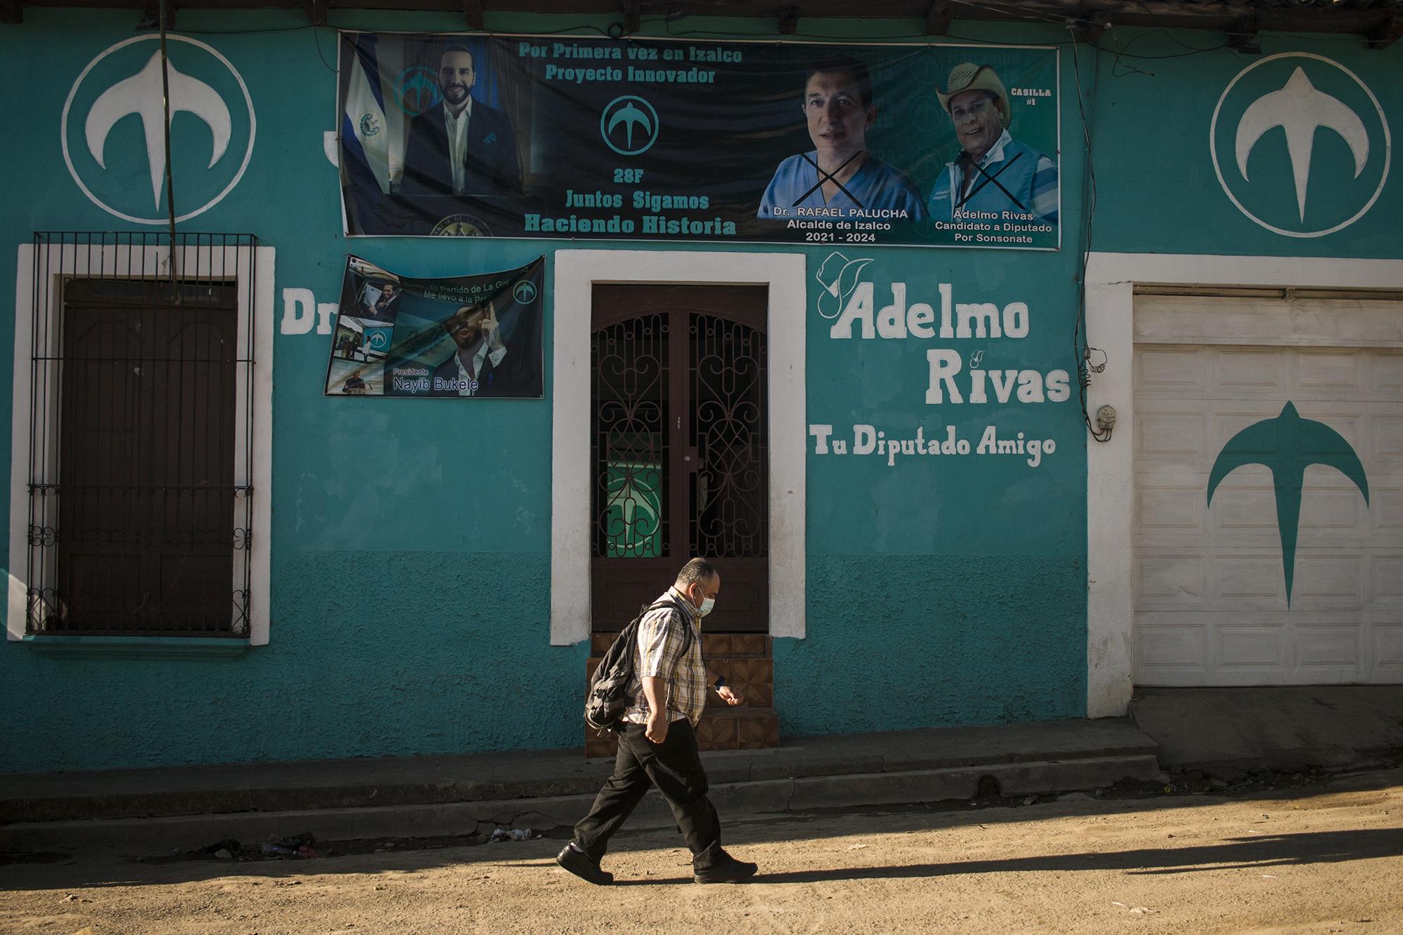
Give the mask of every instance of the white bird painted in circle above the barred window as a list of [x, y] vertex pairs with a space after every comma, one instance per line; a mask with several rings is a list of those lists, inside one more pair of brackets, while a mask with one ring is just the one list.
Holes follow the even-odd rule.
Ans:
[[[233, 124], [229, 118], [229, 107], [219, 95], [219, 91], [205, 84], [199, 79], [175, 70], [170, 66], [170, 107], [171, 117], [178, 111], [194, 114], [205, 121], [213, 140], [209, 168], [223, 157], [229, 149], [229, 138], [233, 133]], [[140, 72], [129, 79], [123, 79], [102, 91], [93, 110], [88, 111], [84, 133], [87, 135], [88, 152], [102, 168], [104, 149], [107, 138], [118, 121], [136, 114], [142, 118], [142, 129], [146, 133], [146, 159], [152, 170], [152, 199], [156, 209], [161, 206], [161, 181], [166, 177], [166, 143], [163, 128], [166, 114], [161, 105], [161, 56], [157, 52]]]

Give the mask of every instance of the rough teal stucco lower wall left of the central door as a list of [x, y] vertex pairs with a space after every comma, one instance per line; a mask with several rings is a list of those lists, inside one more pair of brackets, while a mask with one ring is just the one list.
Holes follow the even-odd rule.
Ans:
[[[543, 651], [540, 555], [275, 556], [275, 639], [243, 656], [6, 646], [11, 771], [324, 760], [579, 743], [585, 646]], [[490, 580], [491, 588], [476, 587]]]

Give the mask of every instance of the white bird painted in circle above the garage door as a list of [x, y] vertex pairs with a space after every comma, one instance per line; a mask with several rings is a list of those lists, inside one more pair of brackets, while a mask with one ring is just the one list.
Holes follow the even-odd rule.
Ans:
[[1280, 126], [1287, 132], [1287, 154], [1296, 183], [1296, 208], [1306, 219], [1306, 185], [1310, 180], [1310, 156], [1316, 129], [1324, 126], [1338, 133], [1354, 153], [1354, 177], [1369, 160], [1369, 133], [1364, 121], [1336, 97], [1317, 91], [1306, 73], [1296, 67], [1280, 91], [1253, 101], [1237, 122], [1237, 171], [1247, 178], [1247, 157], [1261, 136]]

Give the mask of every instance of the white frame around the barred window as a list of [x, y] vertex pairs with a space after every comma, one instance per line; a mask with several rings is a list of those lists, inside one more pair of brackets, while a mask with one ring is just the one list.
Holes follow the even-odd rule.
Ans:
[[[48, 257], [42, 251], [48, 251]], [[46, 307], [53, 314], [60, 314], [63, 307], [62, 279], [65, 277], [84, 277], [98, 274], [104, 277], [132, 277], [146, 278], [168, 275], [170, 247], [150, 247], [133, 251], [125, 246], [105, 244], [76, 246], [67, 244], [21, 244], [18, 265], [15, 270], [15, 298], [14, 298], [14, 407], [10, 446], [10, 591], [8, 609], [6, 618], [6, 636], [10, 640], [25, 637], [27, 598], [29, 581], [28, 574], [28, 518], [29, 518], [29, 413], [31, 399], [31, 340], [34, 327], [35, 286], [46, 289], [46, 296], [39, 296], [46, 302]], [[230, 263], [230, 254], [231, 263]], [[177, 268], [185, 277], [223, 278], [234, 284], [239, 303], [239, 348], [240, 359], [254, 359], [253, 371], [253, 438], [246, 439], [243, 432], [236, 432], [234, 445], [234, 484], [253, 486], [253, 538], [250, 549], [234, 550], [233, 583], [234, 588], [243, 587], [244, 563], [248, 563], [248, 644], [264, 646], [268, 643], [269, 622], [269, 539], [272, 522], [272, 333], [274, 333], [274, 247], [240, 246], [210, 250], [208, 246], [191, 246], [178, 250]], [[35, 281], [35, 260], [39, 260], [41, 270], [52, 271], [41, 282]], [[212, 263], [215, 260], [215, 263]], [[254, 316], [254, 347], [248, 348], [248, 316]], [[46, 355], [60, 354], [60, 329], [49, 329], [49, 347]], [[251, 350], [251, 354], [250, 354]], [[239, 368], [236, 380], [236, 410], [234, 424], [246, 424], [248, 417], [248, 376], [250, 368]], [[39, 389], [45, 393], [41, 406], [49, 407], [51, 413], [58, 411], [58, 380], [52, 379]], [[253, 477], [246, 476], [247, 445], [253, 444]], [[46, 442], [55, 448], [48, 452], [45, 463], [58, 466], [56, 437], [51, 434]], [[243, 512], [240, 507], [236, 517]], [[241, 525], [241, 517], [236, 521], [236, 528]], [[173, 633], [173, 636], [182, 636]], [[157, 637], [159, 639], [159, 637]]]

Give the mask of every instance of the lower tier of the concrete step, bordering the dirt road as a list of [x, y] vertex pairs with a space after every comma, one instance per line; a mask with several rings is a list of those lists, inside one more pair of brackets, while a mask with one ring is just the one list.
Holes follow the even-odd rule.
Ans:
[[[1099, 789], [1122, 779], [1159, 781], [1153, 752], [1070, 761], [981, 764], [943, 769], [794, 776], [725, 782], [711, 800], [727, 818], [815, 809], [934, 803], [974, 797], [992, 781], [1006, 796]], [[310, 831], [318, 841], [490, 834], [492, 828], [568, 827], [588, 811], [593, 792], [536, 799], [441, 802], [356, 809], [302, 809], [0, 825], [0, 852], [76, 852], [109, 849], [157, 855], [223, 840], [255, 844], [274, 835]], [[657, 792], [629, 818], [630, 828], [675, 823]]]

